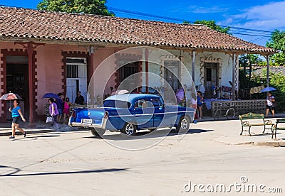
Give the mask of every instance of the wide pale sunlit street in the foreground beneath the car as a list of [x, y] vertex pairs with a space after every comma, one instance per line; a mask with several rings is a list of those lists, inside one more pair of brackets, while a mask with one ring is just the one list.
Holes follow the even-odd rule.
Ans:
[[[0, 195], [217, 195], [211, 191], [217, 184], [227, 187], [227, 195], [261, 195], [279, 187], [285, 192], [284, 148], [226, 142], [239, 135], [238, 120], [193, 124], [181, 140], [173, 133], [163, 137], [167, 131], [134, 140], [117, 133], [103, 140], [90, 131], [28, 134], [14, 141], [0, 136]], [[269, 134], [259, 135], [261, 127], [252, 132], [270, 141]], [[204, 187], [198, 190], [199, 184]], [[231, 184], [241, 186], [229, 190]], [[243, 190], [248, 184], [264, 187], [252, 193]]]

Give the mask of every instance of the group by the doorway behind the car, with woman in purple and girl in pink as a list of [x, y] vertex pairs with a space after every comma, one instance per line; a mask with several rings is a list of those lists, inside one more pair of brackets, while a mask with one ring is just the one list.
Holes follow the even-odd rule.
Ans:
[[[64, 99], [63, 94], [58, 93], [58, 99], [54, 100], [53, 98], [48, 99], [49, 103], [49, 114], [53, 117], [53, 126], [56, 129], [59, 129], [59, 124], [68, 124], [68, 119], [71, 116], [70, 107], [72, 103], [69, 101], [69, 98]], [[76, 101], [74, 104], [83, 105], [84, 97], [81, 95], [81, 92], [77, 92]]]

